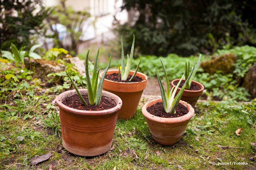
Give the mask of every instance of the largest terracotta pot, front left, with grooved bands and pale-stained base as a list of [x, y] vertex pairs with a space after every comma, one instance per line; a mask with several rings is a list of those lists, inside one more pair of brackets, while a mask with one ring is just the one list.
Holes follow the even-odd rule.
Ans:
[[[87, 89], [79, 89], [87, 94]], [[60, 109], [61, 135], [64, 148], [76, 155], [95, 156], [105, 153], [111, 148], [118, 110], [122, 100], [107, 91], [102, 97], [114, 99], [116, 106], [101, 111], [85, 111], [65, 106], [62, 101], [66, 97], [77, 94], [76, 90], [61, 93], [57, 99]]]

